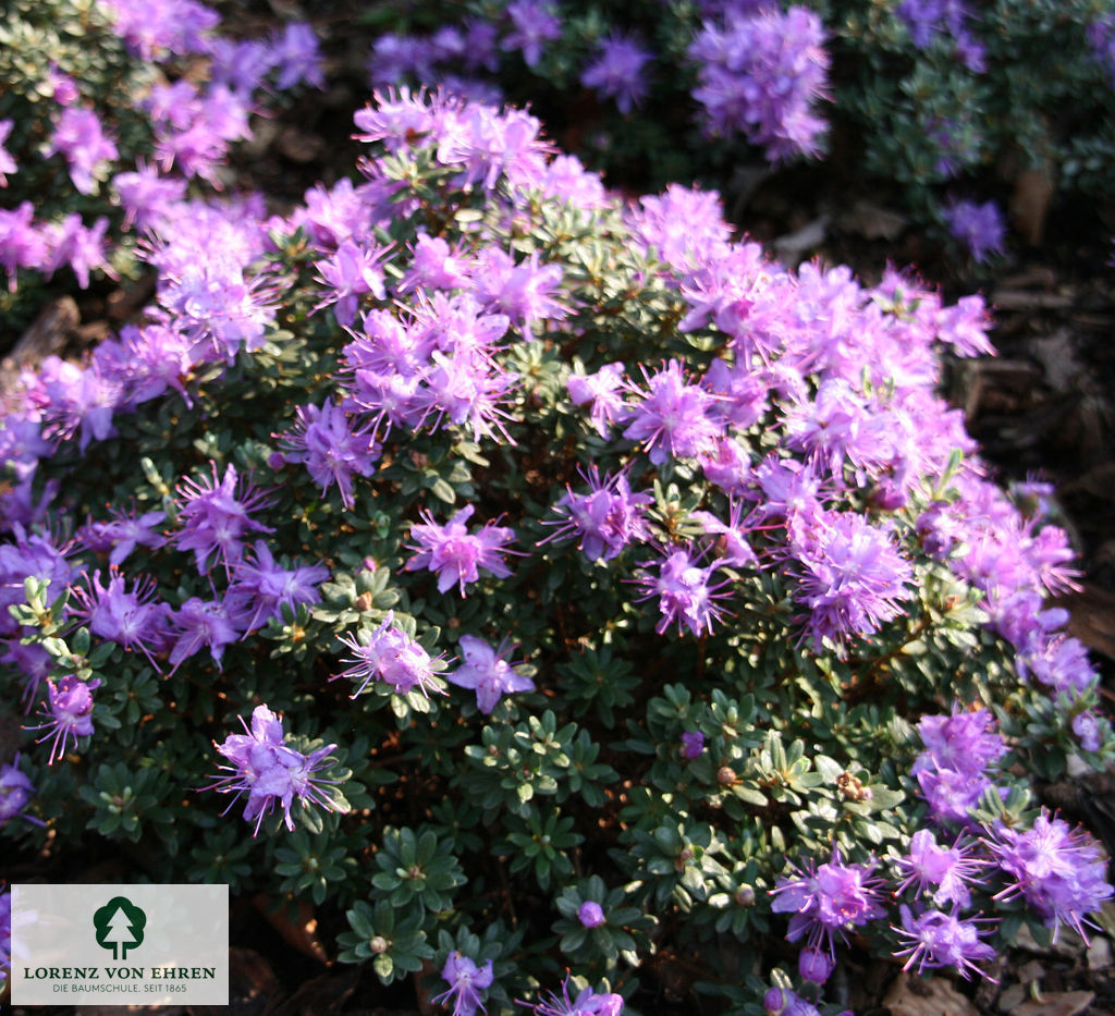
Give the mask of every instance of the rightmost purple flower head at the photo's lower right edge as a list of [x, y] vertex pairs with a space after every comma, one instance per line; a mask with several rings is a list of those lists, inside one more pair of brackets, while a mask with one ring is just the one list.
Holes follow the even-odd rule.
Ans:
[[995, 899], [1021, 896], [1054, 929], [1054, 938], [1064, 921], [1087, 941], [1087, 915], [1115, 890], [1104, 878], [1107, 861], [1099, 844], [1084, 829], [1043, 810], [1032, 829], [999, 826], [983, 842], [1011, 880]]

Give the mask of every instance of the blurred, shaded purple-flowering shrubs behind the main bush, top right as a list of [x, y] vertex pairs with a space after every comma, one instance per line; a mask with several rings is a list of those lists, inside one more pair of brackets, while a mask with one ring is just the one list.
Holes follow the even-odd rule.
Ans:
[[977, 262], [1005, 252], [1026, 194], [1112, 196], [1108, 0], [515, 0], [367, 18], [372, 85], [530, 101], [618, 182], [738, 191], [740, 165], [821, 159], [817, 176], [866, 184]]

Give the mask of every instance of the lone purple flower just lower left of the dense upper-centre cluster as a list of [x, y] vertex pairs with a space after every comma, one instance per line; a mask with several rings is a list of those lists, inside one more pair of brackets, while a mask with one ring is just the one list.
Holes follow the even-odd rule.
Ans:
[[332, 403], [299, 406], [298, 419], [280, 438], [283, 455], [289, 462], [304, 463], [314, 483], [321, 484], [324, 494], [337, 484], [341, 503], [351, 509], [352, 477], [370, 476], [379, 459], [379, 445], [372, 436], [372, 424], [352, 427], [348, 415]]

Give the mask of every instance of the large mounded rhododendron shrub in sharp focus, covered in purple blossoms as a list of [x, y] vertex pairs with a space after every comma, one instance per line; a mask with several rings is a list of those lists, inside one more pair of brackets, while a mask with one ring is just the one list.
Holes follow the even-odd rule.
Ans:
[[455, 1013], [1087, 933], [1030, 787], [1112, 755], [1072, 552], [935, 394], [979, 298], [621, 203], [522, 110], [356, 133], [283, 217], [165, 201], [145, 318], [7, 399], [7, 849], [310, 906]]

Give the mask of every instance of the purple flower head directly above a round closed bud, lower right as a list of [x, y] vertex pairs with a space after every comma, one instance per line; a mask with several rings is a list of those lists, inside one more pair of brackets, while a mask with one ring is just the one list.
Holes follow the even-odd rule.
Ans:
[[834, 848], [832, 861], [825, 864], [815, 867], [811, 860], [805, 870], [791, 865], [792, 873], [782, 875], [770, 890], [776, 897], [770, 909], [794, 915], [786, 938], [794, 942], [807, 933], [811, 948], [824, 944], [834, 955], [834, 939], [843, 938], [845, 929], [883, 917], [878, 890], [882, 880], [873, 874], [875, 863], [845, 864]]

